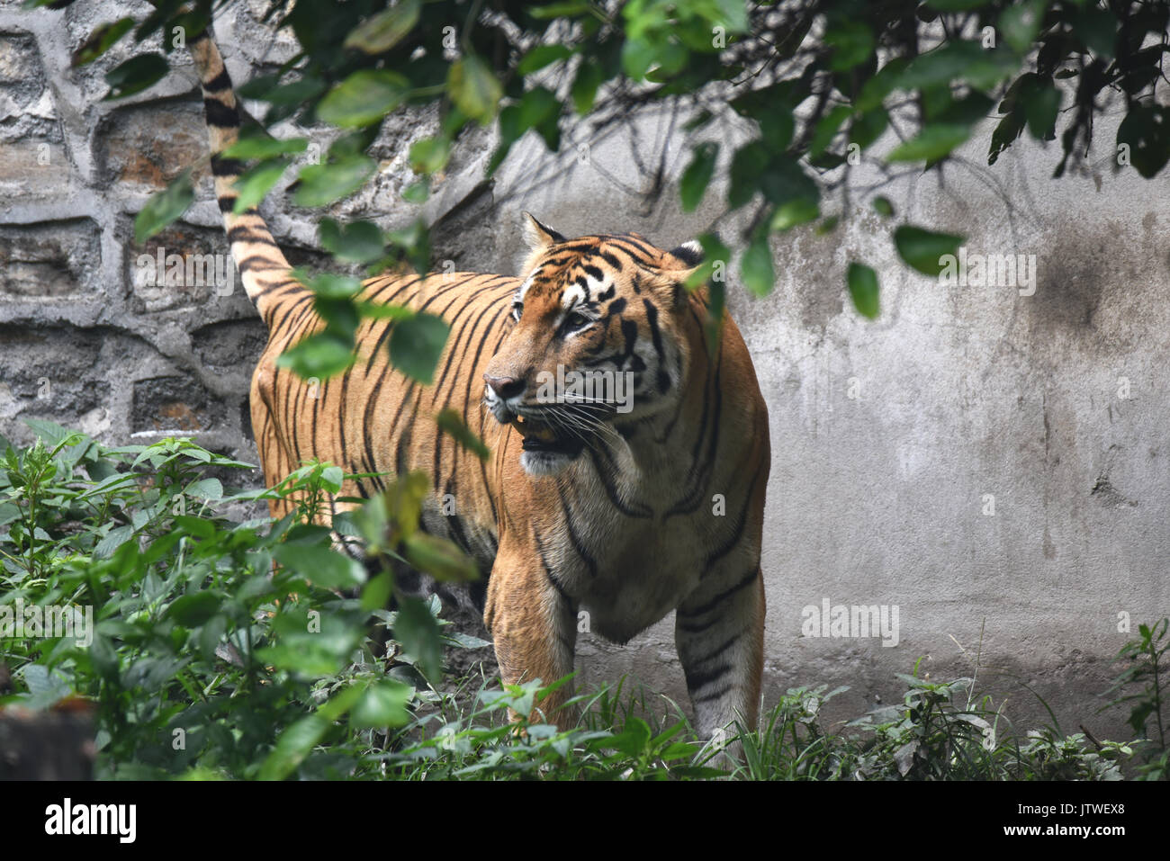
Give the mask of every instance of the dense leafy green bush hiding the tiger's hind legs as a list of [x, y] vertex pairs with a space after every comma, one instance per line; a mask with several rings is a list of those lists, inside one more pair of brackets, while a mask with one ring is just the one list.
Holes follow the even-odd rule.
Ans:
[[[102, 776], [360, 774], [373, 733], [406, 723], [440, 679], [442, 643], [484, 645], [447, 635], [438, 599], [399, 595], [385, 611], [390, 565], [367, 577], [312, 525], [342, 490], [336, 467], [308, 464], [273, 490], [233, 494], [208, 473], [248, 464], [187, 440], [110, 449], [29, 423], [41, 436], [8, 447], [0, 474], [0, 608], [19, 618], [60, 607], [77, 622], [88, 607], [94, 625], [91, 642], [61, 635], [76, 627], [6, 641], [23, 691], [0, 704], [91, 702]], [[438, 557], [428, 573], [474, 576], [457, 550], [417, 532], [419, 477], [338, 518], [338, 531], [365, 536], [379, 563]], [[216, 511], [273, 496], [295, 510], [243, 522]], [[418, 542], [431, 556], [413, 551]]]

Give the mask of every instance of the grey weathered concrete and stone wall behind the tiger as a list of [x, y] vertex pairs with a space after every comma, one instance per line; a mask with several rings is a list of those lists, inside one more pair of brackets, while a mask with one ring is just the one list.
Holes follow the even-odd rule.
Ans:
[[[0, 0], [0, 434], [27, 441], [21, 419], [47, 418], [111, 443], [192, 434], [255, 461], [247, 379], [263, 330], [247, 299], [149, 287], [135, 266], [133, 214], [206, 150], [193, 71], [99, 103], [102, 74], [126, 47], [81, 70], [69, 51], [142, 5], [18, 5]], [[292, 49], [256, 23], [260, 7], [236, 4], [218, 23], [238, 81]], [[412, 220], [418, 209], [399, 199], [405, 154], [433, 124], [387, 123], [377, 179], [335, 215]], [[512, 271], [522, 209], [566, 234], [689, 239], [718, 214], [718, 195], [691, 215], [669, 190], [647, 195], [647, 165], [661, 158], [676, 175], [688, 160], [676, 128], [646, 116], [604, 137], [574, 129], [559, 157], [525, 142], [490, 187], [490, 138], [472, 136], [422, 211], [439, 222], [438, 260]], [[987, 168], [989, 128], [945, 182], [907, 174], [882, 188], [899, 221], [962, 233], [971, 253], [1035, 255], [1034, 295], [910, 273], [865, 200], [830, 235], [773, 242], [768, 298], [731, 285], [771, 412], [765, 704], [789, 687], [848, 684], [830, 716], [852, 717], [896, 700], [893, 674], [920, 657], [921, 673], [942, 679], [970, 675], [980, 654], [980, 688], [997, 705], [1007, 696], [1020, 729], [1045, 718], [1027, 684], [1066, 731], [1124, 735], [1119, 715], [1095, 714], [1128, 636], [1119, 614], [1136, 631], [1170, 612], [1170, 209], [1163, 180], [1110, 170], [1113, 129], [1099, 125], [1104, 163], [1060, 181], [1049, 179], [1055, 150], [1031, 142]], [[226, 250], [206, 168], [197, 175], [199, 202], [147, 253]], [[264, 211], [294, 263], [324, 264], [312, 213], [281, 194]], [[735, 227], [721, 225], [724, 239]], [[853, 259], [879, 271], [876, 323], [846, 296]], [[803, 609], [825, 600], [896, 605], [897, 645], [804, 636]], [[585, 677], [634, 671], [684, 703], [672, 631], [667, 619], [624, 648], [583, 635]]]

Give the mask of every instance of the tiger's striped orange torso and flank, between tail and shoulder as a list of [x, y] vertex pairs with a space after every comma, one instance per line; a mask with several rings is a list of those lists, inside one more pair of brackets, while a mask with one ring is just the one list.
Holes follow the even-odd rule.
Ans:
[[[280, 367], [276, 360], [285, 350], [324, 326], [312, 311], [311, 291], [287, 290], [252, 380], [252, 422], [266, 484], [318, 460], [350, 474], [384, 474], [347, 480], [340, 494], [370, 498], [393, 475], [422, 470], [434, 484], [424, 526], [450, 538], [489, 571], [497, 547], [497, 476], [490, 462], [440, 433], [434, 418], [454, 409], [489, 448], [509, 429], [483, 409], [482, 379], [505, 335], [517, 284], [512, 277], [469, 273], [380, 276], [363, 284], [358, 301], [426, 311], [450, 326], [429, 386], [392, 366], [393, 321], [385, 318], [363, 321], [358, 361], [337, 377], [305, 380]], [[274, 500], [271, 512], [282, 517], [290, 507]]]

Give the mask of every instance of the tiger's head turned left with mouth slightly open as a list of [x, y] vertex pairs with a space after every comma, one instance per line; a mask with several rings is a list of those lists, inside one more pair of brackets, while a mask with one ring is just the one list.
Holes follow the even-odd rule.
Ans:
[[564, 469], [606, 434], [673, 408], [689, 346], [683, 281], [702, 249], [636, 233], [566, 240], [525, 213], [530, 255], [484, 402], [523, 436], [532, 475]]

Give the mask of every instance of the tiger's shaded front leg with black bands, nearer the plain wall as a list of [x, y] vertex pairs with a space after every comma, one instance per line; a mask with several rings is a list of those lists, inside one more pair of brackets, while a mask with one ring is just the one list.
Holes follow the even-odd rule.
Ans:
[[756, 729], [764, 670], [764, 578], [758, 560], [748, 571], [721, 566], [679, 606], [675, 646], [695, 708], [695, 729], [709, 739], [735, 732], [734, 721]]

